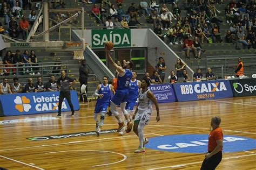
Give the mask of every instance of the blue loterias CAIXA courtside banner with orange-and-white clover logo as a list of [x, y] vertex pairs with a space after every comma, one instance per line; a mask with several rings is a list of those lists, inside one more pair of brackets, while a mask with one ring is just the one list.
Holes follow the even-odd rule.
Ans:
[[[79, 110], [77, 91], [72, 90], [70, 92], [73, 107], [75, 110]], [[1, 116], [57, 112], [59, 91], [0, 95], [0, 101], [2, 105]], [[62, 111], [70, 111], [66, 99], [62, 103]]]

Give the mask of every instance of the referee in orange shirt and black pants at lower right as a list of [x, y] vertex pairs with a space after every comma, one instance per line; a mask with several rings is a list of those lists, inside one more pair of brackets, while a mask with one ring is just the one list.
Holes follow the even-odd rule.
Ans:
[[219, 127], [221, 119], [219, 116], [212, 117], [210, 135], [208, 138], [208, 152], [201, 166], [201, 170], [215, 169], [221, 159], [223, 150], [223, 132]]

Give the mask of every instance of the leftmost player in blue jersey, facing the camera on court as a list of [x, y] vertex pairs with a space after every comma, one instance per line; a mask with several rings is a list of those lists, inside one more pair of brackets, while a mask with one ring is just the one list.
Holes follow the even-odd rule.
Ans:
[[[99, 136], [102, 129], [107, 107], [109, 107], [111, 93], [114, 94], [114, 88], [108, 83], [107, 76], [103, 77], [103, 83], [97, 86], [95, 90], [95, 96], [97, 96], [97, 103], [95, 105], [95, 111], [93, 118], [96, 121], [96, 134]], [[98, 114], [100, 114], [100, 122], [98, 122]]]

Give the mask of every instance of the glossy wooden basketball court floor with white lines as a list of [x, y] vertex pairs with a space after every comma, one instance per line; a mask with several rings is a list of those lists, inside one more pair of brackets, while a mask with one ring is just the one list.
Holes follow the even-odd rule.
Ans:
[[[221, 117], [225, 135], [256, 139], [256, 96], [160, 104], [160, 122], [156, 111], [144, 129], [147, 138], [171, 134], [208, 134], [212, 116]], [[0, 121], [21, 122], [0, 125], [0, 167], [7, 169], [200, 169], [204, 153], [153, 150], [134, 153], [138, 137], [118, 133], [29, 140], [31, 137], [59, 136], [95, 130], [95, 102], [81, 105], [74, 118], [56, 114], [0, 117]], [[49, 120], [38, 121], [42, 118]], [[28, 118], [38, 118], [23, 122]], [[103, 129], [116, 129], [114, 117], [106, 116]], [[225, 145], [224, 145], [225, 147]], [[224, 148], [225, 149], [225, 148]], [[256, 169], [256, 148], [224, 153], [217, 169]]]

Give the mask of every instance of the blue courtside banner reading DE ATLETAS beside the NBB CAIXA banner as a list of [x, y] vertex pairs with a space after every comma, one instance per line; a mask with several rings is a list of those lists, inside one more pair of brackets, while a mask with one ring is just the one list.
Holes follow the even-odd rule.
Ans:
[[169, 103], [176, 101], [173, 86], [170, 83], [151, 84], [149, 89], [154, 94], [154, 97], [156, 97], [158, 103]]

